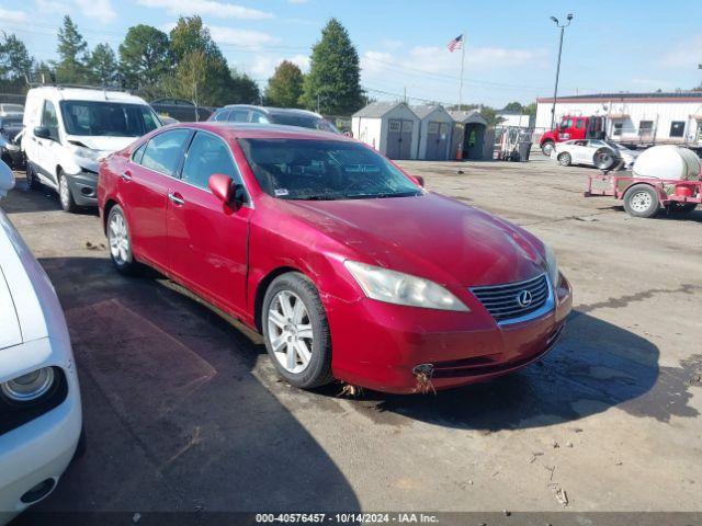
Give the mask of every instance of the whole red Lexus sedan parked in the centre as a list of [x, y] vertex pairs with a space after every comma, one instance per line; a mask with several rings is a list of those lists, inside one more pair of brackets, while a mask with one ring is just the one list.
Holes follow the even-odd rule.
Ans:
[[120, 272], [254, 328], [294, 386], [417, 392], [544, 355], [571, 307], [551, 249], [420, 183], [343, 136], [197, 123], [110, 156], [98, 195]]

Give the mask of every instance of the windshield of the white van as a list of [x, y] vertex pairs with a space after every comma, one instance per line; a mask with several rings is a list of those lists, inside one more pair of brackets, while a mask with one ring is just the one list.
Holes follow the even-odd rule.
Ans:
[[61, 101], [60, 108], [69, 135], [140, 137], [160, 126], [154, 111], [145, 104]]

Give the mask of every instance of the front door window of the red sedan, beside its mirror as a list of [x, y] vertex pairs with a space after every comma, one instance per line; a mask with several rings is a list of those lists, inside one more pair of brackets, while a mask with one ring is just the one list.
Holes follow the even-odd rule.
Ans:
[[197, 132], [188, 149], [181, 176], [186, 183], [207, 190], [210, 176], [215, 173], [229, 175], [236, 182], [241, 181], [229, 147], [214, 135]]

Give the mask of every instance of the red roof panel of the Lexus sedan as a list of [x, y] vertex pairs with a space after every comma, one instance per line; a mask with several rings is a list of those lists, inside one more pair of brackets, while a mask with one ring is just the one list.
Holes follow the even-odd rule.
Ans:
[[356, 142], [344, 135], [320, 129], [285, 126], [282, 124], [234, 123], [230, 121], [203, 121], [200, 123], [179, 123], [169, 127], [200, 128], [231, 139], [318, 139]]

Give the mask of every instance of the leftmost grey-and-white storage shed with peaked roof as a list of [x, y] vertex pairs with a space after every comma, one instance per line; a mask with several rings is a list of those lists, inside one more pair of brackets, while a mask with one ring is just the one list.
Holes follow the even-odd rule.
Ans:
[[353, 114], [351, 132], [390, 159], [417, 159], [419, 117], [404, 102], [374, 102]]

